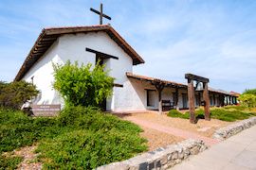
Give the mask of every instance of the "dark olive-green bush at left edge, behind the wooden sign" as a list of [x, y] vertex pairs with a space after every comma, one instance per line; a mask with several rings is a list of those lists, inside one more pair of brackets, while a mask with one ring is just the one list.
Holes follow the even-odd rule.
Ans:
[[38, 93], [36, 87], [26, 81], [0, 81], [0, 107], [19, 110], [27, 100]]

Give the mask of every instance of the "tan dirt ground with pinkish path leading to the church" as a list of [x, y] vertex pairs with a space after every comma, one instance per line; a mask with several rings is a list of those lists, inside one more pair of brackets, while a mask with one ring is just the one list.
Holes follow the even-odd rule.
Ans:
[[[120, 117], [136, 123], [143, 129], [152, 129], [153, 134], [145, 136], [150, 141], [150, 147], [174, 144], [188, 138], [200, 139], [209, 145], [216, 144], [217, 141], [211, 138], [213, 132], [220, 127], [226, 127], [230, 124], [229, 122], [215, 119], [210, 121], [199, 120], [197, 124], [191, 124], [187, 119], [173, 118], [166, 114], [157, 114], [155, 112], [134, 112], [122, 114]], [[164, 136], [165, 141], [159, 142], [158, 139], [152, 139], [152, 136], [157, 135], [158, 138]]]

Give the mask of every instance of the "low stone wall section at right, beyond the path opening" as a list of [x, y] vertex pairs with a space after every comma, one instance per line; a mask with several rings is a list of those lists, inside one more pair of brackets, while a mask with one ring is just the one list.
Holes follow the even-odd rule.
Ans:
[[240, 121], [236, 124], [229, 125], [228, 127], [217, 129], [212, 137], [219, 141], [223, 141], [229, 138], [230, 136], [233, 136], [239, 133], [240, 131], [247, 129], [248, 127], [252, 127], [254, 125], [256, 125], [256, 117]]

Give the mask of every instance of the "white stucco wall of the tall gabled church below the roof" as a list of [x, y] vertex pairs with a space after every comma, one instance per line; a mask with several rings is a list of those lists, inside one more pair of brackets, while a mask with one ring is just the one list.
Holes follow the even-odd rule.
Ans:
[[[54, 42], [46, 54], [22, 78], [30, 82], [31, 77], [34, 76], [33, 82], [41, 91], [34, 103], [63, 103], [60, 95], [52, 88], [54, 81], [52, 62], [63, 64], [70, 59], [71, 62], [78, 60], [79, 63], [87, 64], [90, 62], [95, 65], [96, 55], [85, 51], [86, 47], [118, 57], [119, 59], [107, 59], [106, 69], [110, 70], [110, 76], [115, 77], [115, 83], [124, 84], [128, 81], [125, 73], [133, 71], [133, 60], [106, 33], [68, 34]], [[123, 88], [120, 89], [123, 90]], [[119, 95], [122, 91], [119, 88], [114, 88], [114, 93]], [[123, 105], [119, 102], [119, 106], [116, 106], [115, 101], [117, 101], [115, 96], [107, 100], [108, 110], [114, 110], [115, 107], [119, 108]]]

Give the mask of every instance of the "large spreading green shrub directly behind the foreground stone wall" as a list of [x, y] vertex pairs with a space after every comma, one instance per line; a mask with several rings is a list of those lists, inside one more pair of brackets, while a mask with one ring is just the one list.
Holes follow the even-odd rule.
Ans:
[[137, 135], [119, 130], [76, 130], [40, 144], [46, 169], [93, 169], [146, 150]]

